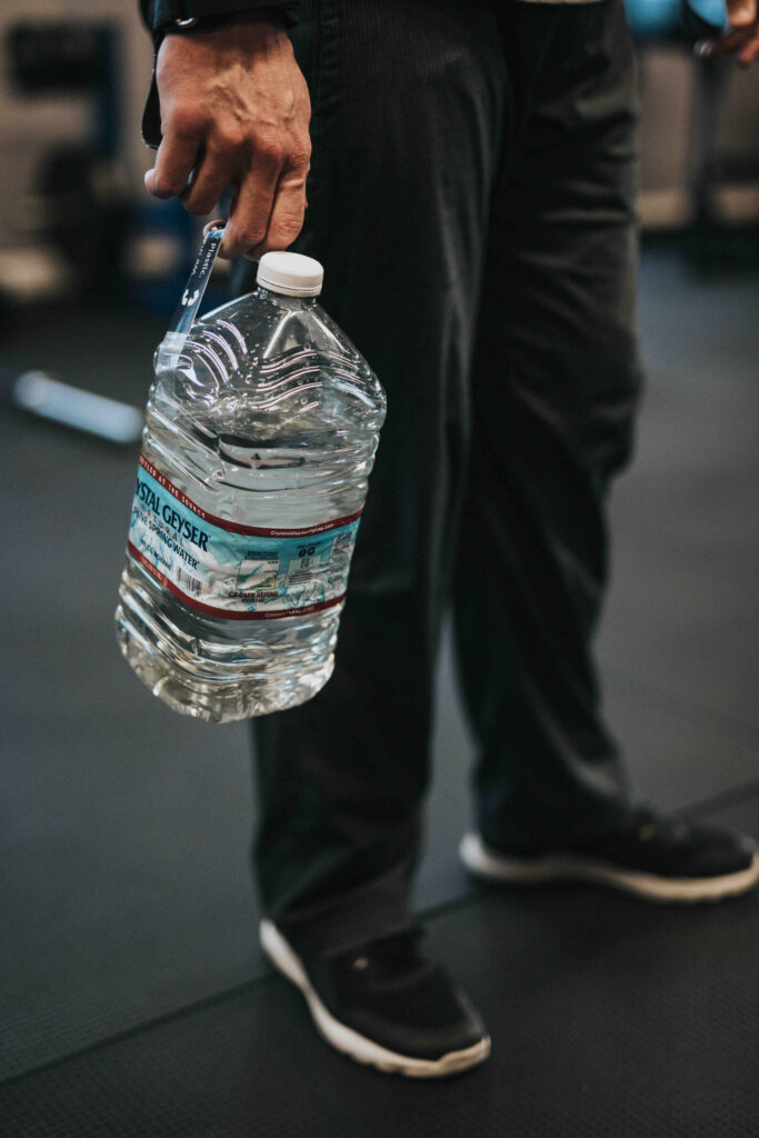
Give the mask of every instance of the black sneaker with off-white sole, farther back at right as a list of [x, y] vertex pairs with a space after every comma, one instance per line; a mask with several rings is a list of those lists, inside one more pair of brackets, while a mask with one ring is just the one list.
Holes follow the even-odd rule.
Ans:
[[644, 807], [607, 833], [561, 848], [510, 849], [470, 833], [460, 852], [465, 867], [489, 882], [593, 881], [653, 901], [717, 901], [759, 880], [750, 839]]

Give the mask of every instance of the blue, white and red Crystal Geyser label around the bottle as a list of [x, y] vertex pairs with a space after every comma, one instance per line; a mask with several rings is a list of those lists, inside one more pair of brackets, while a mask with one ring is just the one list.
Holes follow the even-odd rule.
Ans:
[[319, 612], [345, 597], [361, 510], [304, 529], [201, 510], [140, 455], [129, 552], [189, 608], [231, 620]]

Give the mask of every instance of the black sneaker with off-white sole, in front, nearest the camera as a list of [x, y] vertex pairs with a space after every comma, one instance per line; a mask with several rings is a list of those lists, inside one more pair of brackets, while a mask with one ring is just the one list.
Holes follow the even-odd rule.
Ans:
[[306, 963], [271, 921], [262, 921], [261, 945], [300, 989], [324, 1039], [358, 1063], [434, 1078], [490, 1054], [479, 1015], [423, 955], [415, 931]]

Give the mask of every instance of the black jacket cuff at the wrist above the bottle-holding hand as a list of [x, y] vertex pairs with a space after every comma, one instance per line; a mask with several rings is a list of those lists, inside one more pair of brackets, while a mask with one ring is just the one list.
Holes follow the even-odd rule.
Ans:
[[[296, 24], [298, 19], [298, 0], [139, 0], [139, 5], [142, 19], [152, 33], [156, 55], [166, 33], [189, 31], [230, 16], [266, 10], [281, 17], [286, 26]], [[155, 64], [142, 115], [142, 138], [154, 149], [160, 145], [160, 106]]]

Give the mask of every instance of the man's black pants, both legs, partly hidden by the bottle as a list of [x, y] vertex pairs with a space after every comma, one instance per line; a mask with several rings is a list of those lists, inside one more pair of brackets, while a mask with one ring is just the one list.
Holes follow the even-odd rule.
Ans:
[[388, 395], [335, 675], [255, 724], [263, 901], [319, 947], [407, 921], [449, 604], [485, 836], [625, 809], [591, 642], [640, 382], [621, 0], [304, 9], [296, 248]]

